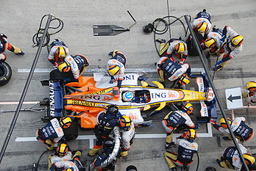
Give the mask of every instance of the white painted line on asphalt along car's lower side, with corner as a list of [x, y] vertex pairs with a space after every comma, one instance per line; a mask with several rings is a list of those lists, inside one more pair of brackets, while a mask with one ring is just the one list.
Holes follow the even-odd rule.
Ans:
[[[173, 134], [172, 138], [173, 141], [176, 142], [177, 137], [180, 134]], [[207, 123], [207, 133], [198, 133], [197, 137], [201, 138], [210, 138], [213, 137], [212, 126], [210, 123]], [[166, 138], [166, 134], [136, 134], [136, 139], [159, 139], [159, 138]], [[77, 137], [76, 140], [89, 140], [90, 148], [93, 148], [93, 140], [96, 139], [94, 135], [80, 135]], [[15, 142], [36, 142], [37, 139], [35, 137], [16, 137]]]

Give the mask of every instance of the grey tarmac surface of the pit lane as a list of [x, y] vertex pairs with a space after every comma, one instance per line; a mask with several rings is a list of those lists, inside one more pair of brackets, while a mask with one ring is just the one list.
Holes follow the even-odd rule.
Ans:
[[[256, 1], [169, 1], [169, 14], [177, 16], [191, 15], [192, 18], [197, 12], [206, 9], [212, 16], [211, 21], [217, 28], [223, 28], [225, 25], [231, 26], [235, 32], [243, 35], [243, 51], [238, 57], [232, 59], [223, 70], [218, 71], [214, 77], [214, 84], [218, 89], [218, 95], [221, 102], [227, 109], [224, 90], [231, 87], [243, 87], [247, 81], [255, 80], [255, 19], [256, 19]], [[95, 24], [113, 24], [122, 27], [132, 25], [133, 21], [129, 17], [127, 10], [132, 13], [137, 24], [133, 26], [130, 32], [124, 32], [116, 36], [96, 37], [93, 36], [93, 25]], [[13, 69], [13, 76], [10, 82], [0, 88], [0, 110], [16, 109], [17, 104], [2, 104], [1, 102], [18, 101], [24, 88], [28, 70], [32, 65], [37, 48], [33, 48], [32, 36], [38, 31], [40, 19], [43, 15], [53, 13], [64, 22], [64, 28], [61, 32], [51, 36], [61, 39], [68, 46], [71, 54], [83, 54], [88, 57], [90, 73], [84, 73], [84, 76], [91, 76], [92, 72], [102, 72], [106, 68], [107, 54], [114, 49], [122, 51], [127, 57], [127, 70], [149, 70], [150, 80], [157, 79], [156, 73], [153, 73], [154, 62], [159, 59], [154, 47], [153, 34], [143, 34], [142, 27], [152, 23], [156, 18], [163, 18], [168, 15], [166, 1], [82, 1], [82, 0], [57, 0], [57, 1], [1, 1], [1, 31], [8, 36], [8, 40], [15, 46], [21, 48], [25, 55], [23, 57], [7, 51], [7, 62]], [[185, 23], [184, 18], [182, 21]], [[186, 24], [185, 24], [186, 26]], [[171, 25], [171, 37], [186, 39], [185, 32], [180, 23]], [[169, 37], [169, 32], [157, 37]], [[157, 44], [158, 46], [158, 44]], [[40, 80], [49, 79], [49, 70], [52, 69], [47, 59], [48, 52], [44, 47], [40, 54], [37, 64], [37, 72], [34, 73], [25, 101], [41, 101], [49, 96], [48, 87], [42, 87]], [[202, 68], [199, 57], [188, 57], [186, 60], [191, 68]], [[209, 65], [213, 67], [216, 57], [211, 57]], [[212, 73], [213, 74], [213, 73]], [[243, 101], [246, 105], [246, 101]], [[23, 108], [29, 105], [24, 104]], [[195, 106], [198, 104], [195, 103]], [[199, 107], [196, 108], [198, 111]], [[151, 127], [138, 128], [137, 134], [165, 134], [160, 124], [162, 118], [168, 113], [168, 109], [154, 117]], [[226, 110], [227, 116], [231, 117], [230, 110]], [[255, 109], [244, 108], [234, 110], [235, 117], [246, 117], [246, 123], [256, 128]], [[3, 142], [7, 134], [7, 129], [13, 119], [14, 112], [0, 112], [0, 142]], [[195, 112], [193, 120], [198, 115]], [[44, 123], [40, 120], [44, 116], [43, 112], [20, 112], [17, 123], [10, 138], [9, 145], [4, 158], [0, 164], [0, 170], [32, 170], [32, 164], [38, 161], [38, 158], [46, 146], [40, 142], [15, 142], [17, 137], [35, 137], [35, 131]], [[218, 116], [221, 113], [218, 111]], [[205, 133], [206, 125], [202, 124], [199, 128], [200, 133]], [[79, 130], [80, 135], [92, 135], [91, 130]], [[233, 146], [232, 141], [224, 141], [223, 135], [213, 128], [213, 137], [199, 138], [199, 171], [205, 170], [207, 166], [216, 167], [216, 170], [223, 171], [218, 167], [216, 159], [223, 153], [224, 148]], [[249, 148], [250, 153], [256, 153], [255, 138], [243, 145]], [[70, 143], [71, 149], [82, 149], [82, 164], [88, 166], [93, 157], [88, 157], [86, 153], [89, 150], [88, 140], [74, 140]], [[129, 156], [124, 159], [118, 159], [116, 170], [123, 171], [129, 164], [138, 167], [138, 170], [144, 171], [167, 171], [168, 164], [164, 159], [165, 139], [149, 138], [135, 139], [134, 145], [129, 150]], [[47, 170], [48, 152], [40, 161], [38, 170]], [[195, 171], [198, 159], [193, 157], [194, 162], [190, 170]]]

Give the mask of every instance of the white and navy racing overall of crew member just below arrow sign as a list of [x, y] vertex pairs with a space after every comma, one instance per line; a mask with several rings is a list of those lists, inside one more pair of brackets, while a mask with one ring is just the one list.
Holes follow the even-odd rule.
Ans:
[[[235, 134], [235, 137], [238, 138], [241, 142], [248, 141], [252, 139], [254, 130], [244, 123], [246, 119], [244, 117], [235, 117], [235, 120], [232, 120], [231, 130]], [[228, 134], [228, 138], [231, 138], [230, 131], [227, 128], [223, 128], [221, 125], [213, 124], [214, 128], [218, 129], [218, 131]]]

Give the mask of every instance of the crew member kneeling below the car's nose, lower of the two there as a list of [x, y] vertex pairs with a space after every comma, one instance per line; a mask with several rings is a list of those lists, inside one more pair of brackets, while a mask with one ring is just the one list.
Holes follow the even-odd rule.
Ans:
[[178, 153], [166, 151], [165, 158], [172, 171], [177, 171], [176, 164], [181, 167], [186, 167], [193, 162], [193, 153], [196, 153], [198, 150], [198, 144], [193, 142], [196, 137], [196, 131], [189, 129], [186, 133], [177, 138], [177, 145], [179, 145]]

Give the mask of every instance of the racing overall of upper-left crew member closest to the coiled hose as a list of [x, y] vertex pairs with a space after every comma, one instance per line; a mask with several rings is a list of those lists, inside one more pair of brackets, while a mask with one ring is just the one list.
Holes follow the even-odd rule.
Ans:
[[68, 55], [68, 47], [65, 46], [65, 43], [63, 41], [53, 41], [50, 45], [51, 51], [49, 52], [49, 62], [51, 62], [52, 65], [58, 66], [58, 63], [63, 62], [64, 59], [57, 56], [56, 51], [57, 48], [62, 46], [64, 48], [65, 53]]

